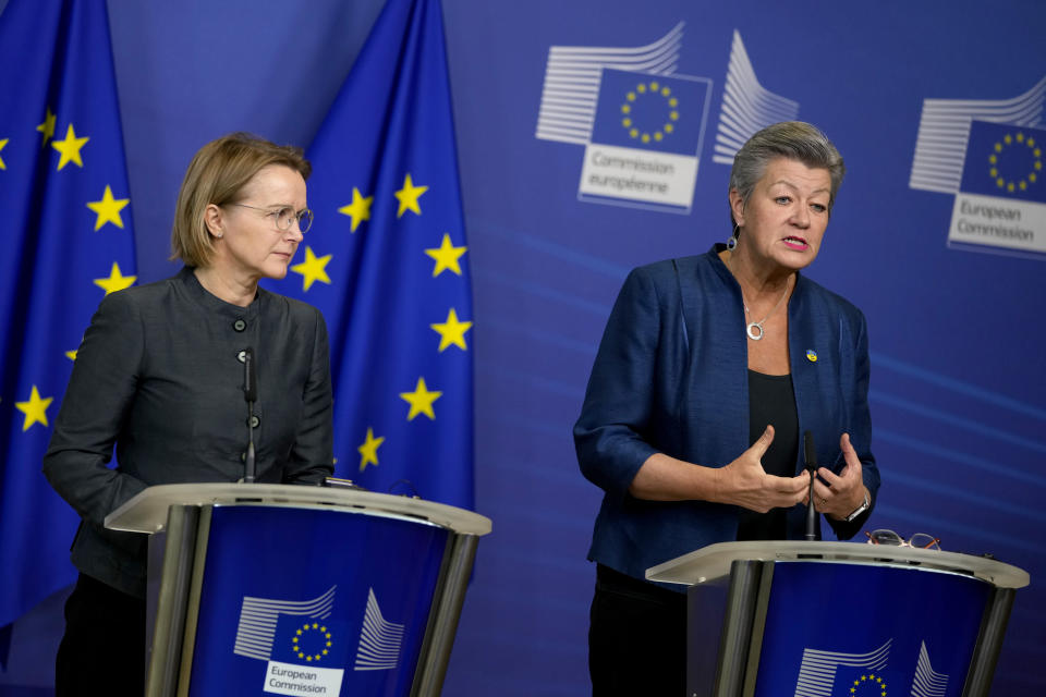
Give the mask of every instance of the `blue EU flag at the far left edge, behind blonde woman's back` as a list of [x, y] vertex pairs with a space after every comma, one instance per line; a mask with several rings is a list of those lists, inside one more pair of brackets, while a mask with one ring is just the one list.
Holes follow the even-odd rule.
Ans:
[[40, 473], [75, 351], [135, 281], [106, 3], [0, 14], [0, 626], [75, 579], [77, 516]]

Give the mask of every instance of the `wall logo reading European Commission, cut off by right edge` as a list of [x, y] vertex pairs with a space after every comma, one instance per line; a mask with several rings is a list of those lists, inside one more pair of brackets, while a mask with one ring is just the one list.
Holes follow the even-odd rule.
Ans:
[[923, 102], [911, 188], [954, 195], [949, 246], [1046, 253], [1046, 77], [1013, 99]]

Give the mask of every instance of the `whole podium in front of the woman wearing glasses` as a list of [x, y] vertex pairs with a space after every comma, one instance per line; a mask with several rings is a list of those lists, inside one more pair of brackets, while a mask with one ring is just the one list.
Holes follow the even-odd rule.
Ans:
[[149, 697], [438, 695], [482, 515], [366, 491], [192, 484], [106, 518], [148, 533]]

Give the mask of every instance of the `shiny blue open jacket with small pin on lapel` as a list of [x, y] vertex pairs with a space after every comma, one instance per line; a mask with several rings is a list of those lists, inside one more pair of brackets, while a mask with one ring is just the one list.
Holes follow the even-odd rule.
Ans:
[[[737, 506], [629, 493], [654, 453], [721, 467], [751, 445], [744, 305], [718, 257], [721, 248], [629, 274], [574, 426], [582, 473], [606, 492], [588, 559], [636, 578], [661, 562], [737, 539]], [[871, 451], [864, 315], [800, 274], [788, 322], [800, 432], [813, 432], [817, 462], [837, 473], [846, 464], [839, 438], [850, 433], [874, 506], [879, 472]], [[802, 468], [796, 457], [796, 474]], [[867, 515], [849, 524], [828, 521], [849, 539]], [[802, 539], [804, 529], [805, 506], [796, 505], [788, 513], [788, 536]]]

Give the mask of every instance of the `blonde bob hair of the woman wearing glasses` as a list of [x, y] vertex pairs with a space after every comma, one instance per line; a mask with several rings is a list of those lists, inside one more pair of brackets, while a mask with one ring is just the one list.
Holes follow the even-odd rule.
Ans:
[[302, 148], [276, 145], [250, 133], [232, 133], [202, 147], [188, 163], [178, 193], [171, 259], [191, 267], [208, 266], [215, 246], [204, 221], [207, 206], [236, 203], [247, 182], [270, 164], [289, 167], [305, 180], [313, 172]]

